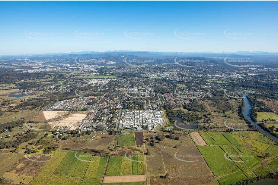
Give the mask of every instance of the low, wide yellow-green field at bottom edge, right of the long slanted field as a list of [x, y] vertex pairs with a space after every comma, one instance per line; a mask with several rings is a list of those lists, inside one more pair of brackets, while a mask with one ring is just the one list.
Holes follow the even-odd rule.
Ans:
[[82, 178], [69, 176], [51, 176], [46, 185], [80, 185]]

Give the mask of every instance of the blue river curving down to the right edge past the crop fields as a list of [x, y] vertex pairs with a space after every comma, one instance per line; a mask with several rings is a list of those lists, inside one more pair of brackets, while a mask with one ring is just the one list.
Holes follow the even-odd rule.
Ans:
[[278, 143], [278, 138], [276, 138], [275, 136], [271, 135], [269, 132], [265, 131], [264, 129], [260, 128], [260, 126], [258, 125], [258, 123], [255, 123], [251, 117], [250, 117], [250, 113], [251, 113], [251, 104], [250, 101], [247, 98], [247, 95], [244, 94], [243, 95], [243, 100], [244, 100], [244, 111], [243, 111], [243, 115], [244, 117], [251, 122], [251, 124], [253, 124], [263, 135], [267, 136], [268, 138], [272, 139], [273, 141], [275, 141], [276, 143]]

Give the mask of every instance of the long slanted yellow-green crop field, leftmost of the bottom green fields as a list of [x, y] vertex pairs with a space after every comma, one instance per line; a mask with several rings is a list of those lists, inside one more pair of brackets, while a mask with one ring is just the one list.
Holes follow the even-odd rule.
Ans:
[[66, 153], [55, 152], [40, 169], [40, 172], [30, 181], [30, 185], [44, 185], [50, 178], [50, 175], [55, 171], [56, 167], [66, 156]]

